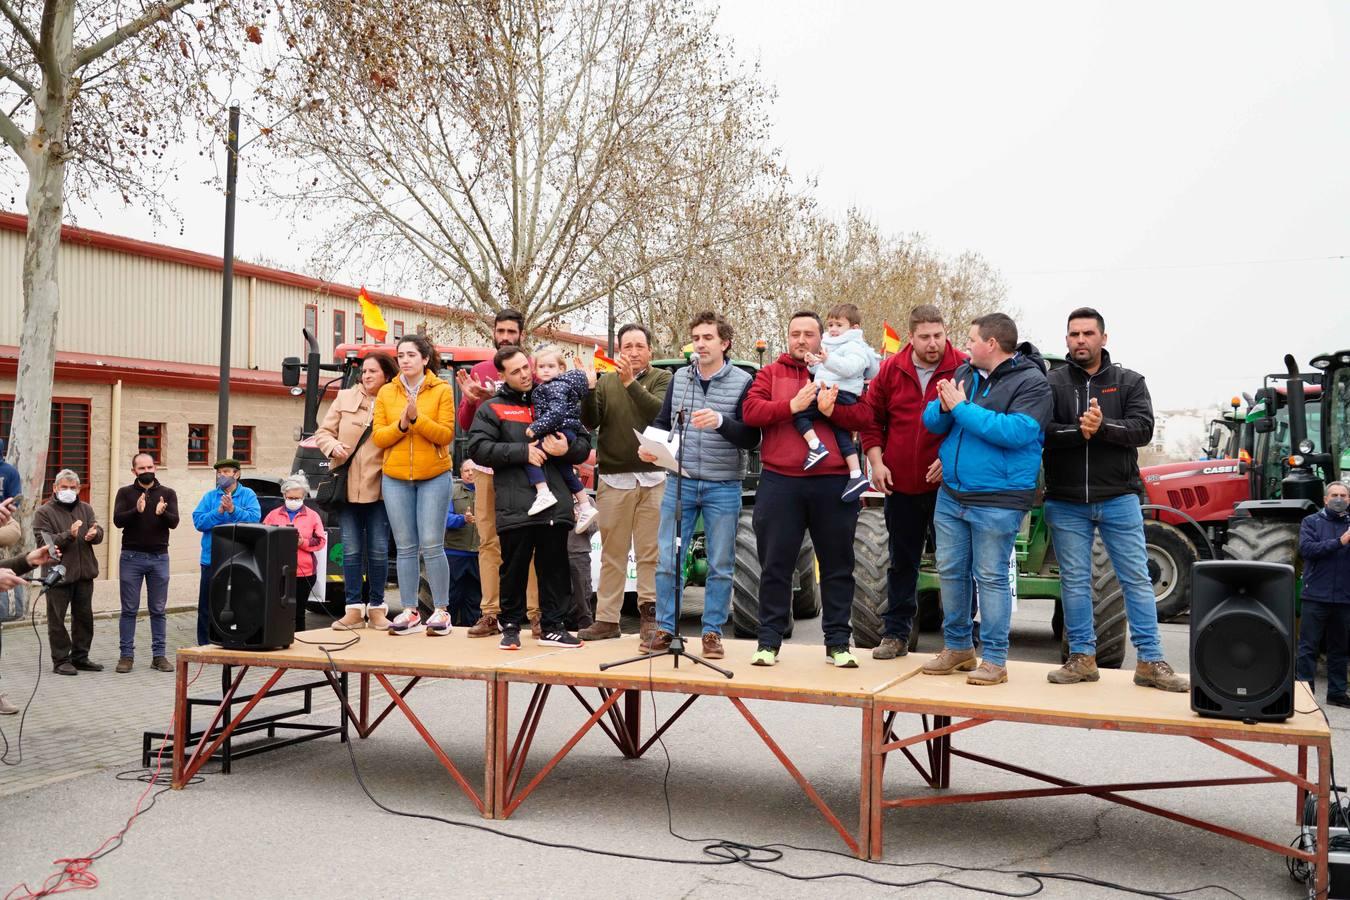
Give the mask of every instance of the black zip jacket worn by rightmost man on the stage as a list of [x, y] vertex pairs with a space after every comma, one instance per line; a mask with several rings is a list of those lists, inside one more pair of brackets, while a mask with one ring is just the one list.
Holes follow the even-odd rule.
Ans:
[[[1098, 503], [1142, 494], [1139, 452], [1153, 440], [1153, 401], [1143, 375], [1102, 351], [1102, 367], [1088, 375], [1072, 362], [1049, 375], [1054, 412], [1045, 429], [1045, 495]], [[1102, 426], [1091, 440], [1079, 430], [1088, 401], [1102, 407]]]

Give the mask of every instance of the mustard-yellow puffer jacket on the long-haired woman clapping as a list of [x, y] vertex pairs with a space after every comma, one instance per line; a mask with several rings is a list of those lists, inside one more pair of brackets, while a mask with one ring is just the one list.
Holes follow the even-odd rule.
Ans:
[[370, 443], [385, 451], [383, 472], [401, 482], [424, 482], [448, 472], [455, 440], [455, 391], [435, 372], [423, 376], [417, 391], [417, 421], [404, 432], [398, 421], [408, 406], [402, 378], [379, 389]]

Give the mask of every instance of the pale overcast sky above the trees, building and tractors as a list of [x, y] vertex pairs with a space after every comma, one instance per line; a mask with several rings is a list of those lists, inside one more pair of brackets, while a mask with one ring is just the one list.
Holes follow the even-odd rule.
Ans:
[[[1350, 4], [728, 0], [720, 27], [826, 209], [979, 251], [1045, 349], [1096, 306], [1160, 409], [1350, 347]], [[219, 254], [209, 171], [173, 188], [182, 233], [80, 224]], [[239, 255], [301, 263], [271, 219], [242, 205]]]

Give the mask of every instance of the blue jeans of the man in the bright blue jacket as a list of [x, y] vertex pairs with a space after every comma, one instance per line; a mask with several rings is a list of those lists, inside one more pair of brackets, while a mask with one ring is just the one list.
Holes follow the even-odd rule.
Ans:
[[1013, 595], [1008, 556], [1025, 510], [967, 506], [938, 488], [933, 526], [937, 530], [937, 572], [942, 582], [942, 642], [952, 650], [975, 646], [971, 579], [980, 590], [983, 660], [1007, 665]]

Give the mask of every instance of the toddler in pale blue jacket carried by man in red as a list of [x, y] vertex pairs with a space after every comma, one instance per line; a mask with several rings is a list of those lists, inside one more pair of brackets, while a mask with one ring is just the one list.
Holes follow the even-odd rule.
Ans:
[[[863, 393], [863, 383], [876, 378], [882, 359], [872, 349], [863, 336], [863, 314], [853, 304], [838, 304], [830, 309], [825, 317], [828, 333], [821, 339], [819, 355], [807, 354], [806, 363], [810, 366], [811, 378], [821, 387], [840, 389], [838, 399], [841, 406], [850, 406], [857, 402]], [[803, 470], [809, 470], [830, 455], [821, 439], [815, 436], [815, 422], [821, 420], [815, 401], [805, 410], [792, 417], [796, 433], [806, 439], [806, 461]], [[844, 487], [844, 499], [852, 501], [867, 490], [868, 482], [863, 476], [863, 467], [859, 464], [857, 444], [853, 434], [846, 429], [836, 428], [834, 440], [838, 441], [840, 453], [848, 463], [848, 484]]]

